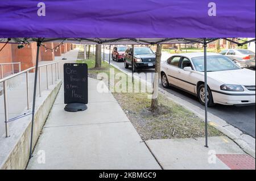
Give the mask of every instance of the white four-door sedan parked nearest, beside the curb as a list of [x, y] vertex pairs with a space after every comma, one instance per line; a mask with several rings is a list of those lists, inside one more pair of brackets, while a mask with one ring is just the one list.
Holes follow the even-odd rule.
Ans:
[[[204, 105], [204, 53], [174, 54], [161, 64], [163, 87], [187, 91]], [[217, 53], [207, 53], [207, 70], [208, 106], [255, 104], [255, 71]]]

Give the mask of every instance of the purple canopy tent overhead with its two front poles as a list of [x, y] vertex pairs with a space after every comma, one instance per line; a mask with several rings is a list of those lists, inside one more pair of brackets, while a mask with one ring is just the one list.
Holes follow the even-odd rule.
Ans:
[[[0, 20], [0, 43], [36, 41], [38, 53], [42, 43], [48, 41], [132, 45], [201, 43], [207, 91], [207, 44], [218, 38], [255, 37], [255, 0], [243, 3], [239, 0], [5, 0], [0, 2]], [[246, 43], [249, 41], [237, 44]], [[38, 56], [32, 129], [37, 72]], [[205, 129], [205, 146], [208, 146], [207, 104]], [[30, 156], [31, 151], [32, 148]]]

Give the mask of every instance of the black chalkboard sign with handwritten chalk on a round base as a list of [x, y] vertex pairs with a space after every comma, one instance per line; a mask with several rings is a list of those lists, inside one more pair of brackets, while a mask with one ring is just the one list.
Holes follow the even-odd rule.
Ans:
[[64, 64], [65, 111], [77, 112], [87, 109], [88, 66], [87, 64]]

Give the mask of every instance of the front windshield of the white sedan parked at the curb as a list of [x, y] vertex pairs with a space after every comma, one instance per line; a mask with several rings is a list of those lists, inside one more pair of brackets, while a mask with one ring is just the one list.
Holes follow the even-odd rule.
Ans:
[[[191, 58], [196, 71], [204, 71], [204, 57]], [[207, 71], [223, 71], [241, 69], [225, 56], [207, 56]]]

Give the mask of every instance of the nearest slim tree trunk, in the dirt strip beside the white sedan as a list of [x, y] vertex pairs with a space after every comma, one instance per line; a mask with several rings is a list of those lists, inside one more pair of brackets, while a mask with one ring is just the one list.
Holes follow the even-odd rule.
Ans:
[[150, 110], [155, 112], [158, 110], [158, 84], [160, 77], [160, 62], [162, 56], [162, 45], [156, 45], [156, 64], [155, 64], [155, 75], [154, 75], [154, 84], [153, 84], [153, 96], [151, 100]]

